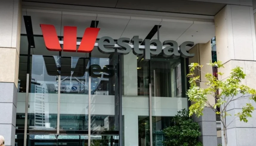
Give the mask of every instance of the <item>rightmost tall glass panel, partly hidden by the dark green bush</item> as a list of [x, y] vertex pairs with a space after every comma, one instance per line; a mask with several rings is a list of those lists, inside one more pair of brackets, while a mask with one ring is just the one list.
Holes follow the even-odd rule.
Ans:
[[153, 146], [163, 145], [163, 129], [170, 126], [177, 111], [187, 109], [187, 98], [182, 91], [182, 69], [184, 65], [180, 59], [157, 56], [150, 60]]

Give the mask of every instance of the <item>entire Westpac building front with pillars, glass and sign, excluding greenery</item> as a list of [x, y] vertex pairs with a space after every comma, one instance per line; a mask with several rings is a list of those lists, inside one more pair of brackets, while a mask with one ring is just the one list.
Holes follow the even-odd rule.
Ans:
[[[197, 74], [216, 74], [206, 63], [217, 57], [225, 64], [220, 72], [241, 66], [243, 83], [256, 88], [253, 4], [0, 1], [5, 145], [163, 146], [163, 129], [191, 104], [189, 63], [205, 66]], [[241, 109], [232, 104], [230, 112]], [[232, 122], [228, 145], [255, 145], [255, 116]], [[222, 143], [214, 112], [206, 107], [193, 119], [203, 145]]]

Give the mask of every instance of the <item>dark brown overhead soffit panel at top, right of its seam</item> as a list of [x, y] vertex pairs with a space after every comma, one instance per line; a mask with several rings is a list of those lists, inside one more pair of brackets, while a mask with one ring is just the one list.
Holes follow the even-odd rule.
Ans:
[[[215, 1], [215, 0], [212, 0]], [[215, 15], [225, 4], [186, 0], [118, 0], [116, 8]]]

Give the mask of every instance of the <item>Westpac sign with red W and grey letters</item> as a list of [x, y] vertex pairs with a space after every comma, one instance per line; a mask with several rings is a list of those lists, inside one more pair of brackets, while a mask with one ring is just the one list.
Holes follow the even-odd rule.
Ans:
[[[142, 39], [139, 36], [130, 38], [119, 38], [117, 44], [113, 38], [105, 36], [98, 40], [98, 32], [100, 28], [88, 27], [85, 29], [81, 42], [77, 42], [77, 27], [64, 26], [63, 41], [59, 41], [56, 29], [53, 25], [40, 24], [45, 46], [50, 51], [62, 51], [61, 44], [63, 44], [63, 51], [67, 52], [85, 52], [90, 53], [94, 46], [98, 47], [98, 50], [104, 54], [118, 53], [120, 55], [126, 55], [129, 52], [133, 52], [134, 55], [144, 55], [144, 60], [150, 60], [151, 56], [156, 56], [160, 53], [164, 57], [179, 58], [192, 58], [195, 54], [190, 54], [186, 51], [186, 46], [194, 46], [194, 42], [183, 42], [179, 47], [176, 41], [167, 40], [161, 43], [159, 40], [145, 39], [144, 44], [139, 43]], [[131, 43], [131, 44], [129, 44]], [[79, 45], [77, 49], [77, 45]], [[153, 46], [152, 46], [153, 45]], [[167, 46], [164, 46], [167, 45]]]

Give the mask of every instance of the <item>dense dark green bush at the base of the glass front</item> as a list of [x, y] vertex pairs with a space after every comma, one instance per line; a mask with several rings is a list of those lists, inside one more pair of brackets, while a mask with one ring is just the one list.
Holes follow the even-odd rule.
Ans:
[[166, 146], [202, 146], [198, 142], [201, 136], [200, 126], [189, 117], [185, 109], [178, 111], [172, 119], [173, 125], [164, 129]]

